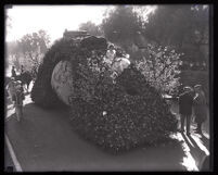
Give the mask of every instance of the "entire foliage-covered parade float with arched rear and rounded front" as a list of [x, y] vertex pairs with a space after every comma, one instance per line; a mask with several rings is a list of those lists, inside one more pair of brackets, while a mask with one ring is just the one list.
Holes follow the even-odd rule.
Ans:
[[84, 32], [65, 33], [43, 58], [33, 101], [67, 107], [73, 129], [112, 152], [165, 141], [177, 129], [169, 105], [137, 66], [117, 71], [108, 64], [107, 45]]

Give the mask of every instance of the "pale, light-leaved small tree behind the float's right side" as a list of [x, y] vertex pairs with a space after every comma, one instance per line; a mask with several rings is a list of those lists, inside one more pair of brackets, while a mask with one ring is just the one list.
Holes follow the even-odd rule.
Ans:
[[152, 87], [161, 93], [177, 93], [179, 88], [179, 66], [182, 61], [180, 54], [167, 47], [149, 45], [143, 59], [136, 61], [136, 65]]

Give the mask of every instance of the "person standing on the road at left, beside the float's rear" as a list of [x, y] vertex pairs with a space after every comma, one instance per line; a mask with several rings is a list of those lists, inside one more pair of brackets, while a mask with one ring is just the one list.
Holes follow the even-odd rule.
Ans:
[[12, 100], [14, 101], [16, 118], [20, 122], [23, 116], [23, 100], [25, 99], [25, 96], [21, 82], [17, 80], [15, 84], [16, 92], [13, 95]]

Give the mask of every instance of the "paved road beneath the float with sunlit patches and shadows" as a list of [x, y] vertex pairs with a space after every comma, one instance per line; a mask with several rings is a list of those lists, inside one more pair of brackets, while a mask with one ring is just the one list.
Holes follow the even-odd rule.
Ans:
[[[9, 110], [10, 111], [10, 110]], [[24, 117], [8, 113], [5, 133], [23, 171], [197, 171], [208, 154], [208, 139], [177, 134], [174, 142], [112, 155], [74, 133], [67, 110], [43, 110], [29, 96]]]

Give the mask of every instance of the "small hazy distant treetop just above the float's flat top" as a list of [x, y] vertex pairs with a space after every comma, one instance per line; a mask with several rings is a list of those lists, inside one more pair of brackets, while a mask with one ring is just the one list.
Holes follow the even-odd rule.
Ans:
[[82, 23], [79, 25], [80, 30], [87, 30], [88, 34], [93, 36], [101, 36], [102, 32], [100, 26], [95, 25], [94, 23], [88, 21], [87, 23]]

